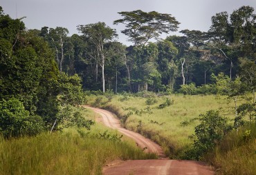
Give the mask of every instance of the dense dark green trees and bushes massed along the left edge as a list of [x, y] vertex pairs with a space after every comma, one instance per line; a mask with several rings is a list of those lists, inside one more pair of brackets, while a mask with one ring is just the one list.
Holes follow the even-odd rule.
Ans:
[[0, 137], [59, 130], [67, 117], [73, 125], [93, 123], [67, 110], [86, 100], [80, 77], [60, 72], [48, 43], [1, 7], [0, 56]]

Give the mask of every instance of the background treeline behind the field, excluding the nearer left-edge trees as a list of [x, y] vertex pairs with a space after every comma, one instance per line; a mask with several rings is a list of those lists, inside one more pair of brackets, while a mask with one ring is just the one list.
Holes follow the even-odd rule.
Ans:
[[[119, 12], [114, 24], [134, 45], [116, 41], [116, 30], [105, 23], [77, 25], [80, 35], [68, 37], [66, 28], [28, 30], [54, 50], [61, 72], [78, 74], [85, 90], [113, 92], [179, 92], [182, 85], [216, 83], [213, 76], [239, 77], [255, 86], [256, 27], [254, 9], [242, 6], [232, 14], [212, 17], [208, 32], [181, 30], [183, 36], [158, 37], [177, 31], [171, 14]], [[156, 42], [150, 42], [157, 39]], [[181, 90], [182, 91], [182, 90]]]

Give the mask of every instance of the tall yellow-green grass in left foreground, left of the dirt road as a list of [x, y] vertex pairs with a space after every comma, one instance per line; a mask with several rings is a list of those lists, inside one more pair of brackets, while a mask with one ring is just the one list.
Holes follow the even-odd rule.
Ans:
[[[95, 117], [89, 110], [84, 115]], [[126, 138], [120, 140], [116, 131], [100, 124], [90, 131], [69, 128], [8, 141], [0, 138], [0, 174], [101, 174], [102, 167], [116, 159], [156, 158]]]

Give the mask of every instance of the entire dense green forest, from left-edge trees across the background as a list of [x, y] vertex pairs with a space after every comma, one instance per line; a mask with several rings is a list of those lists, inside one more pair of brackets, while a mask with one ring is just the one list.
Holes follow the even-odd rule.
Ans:
[[[83, 90], [255, 94], [254, 8], [219, 12], [208, 32], [181, 30], [181, 36], [172, 35], [179, 21], [171, 14], [119, 14], [113, 23], [125, 25], [121, 32], [133, 45], [118, 42], [104, 22], [77, 25], [80, 34], [70, 37], [64, 27], [26, 29], [22, 18], [0, 8], [4, 136], [57, 128], [67, 107], [85, 101]], [[161, 39], [164, 33], [170, 35]], [[89, 127], [91, 121], [83, 123]]]

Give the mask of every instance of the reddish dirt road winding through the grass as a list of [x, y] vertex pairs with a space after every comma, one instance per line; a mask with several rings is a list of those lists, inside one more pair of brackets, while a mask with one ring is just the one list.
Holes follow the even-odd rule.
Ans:
[[104, 167], [103, 174], [105, 175], [120, 175], [120, 174], [140, 174], [140, 175], [167, 175], [167, 174], [205, 174], [212, 175], [214, 172], [209, 167], [198, 161], [177, 161], [167, 160], [163, 154], [162, 148], [153, 141], [141, 136], [136, 132], [131, 132], [121, 127], [120, 121], [114, 117], [114, 114], [106, 110], [101, 110], [95, 107], [84, 106], [97, 112], [102, 116], [102, 121], [107, 127], [118, 130], [122, 134], [129, 136], [136, 141], [141, 148], [147, 147], [145, 152], [154, 152], [158, 154], [159, 160], [136, 160], [136, 161], [118, 161], [107, 167]]

